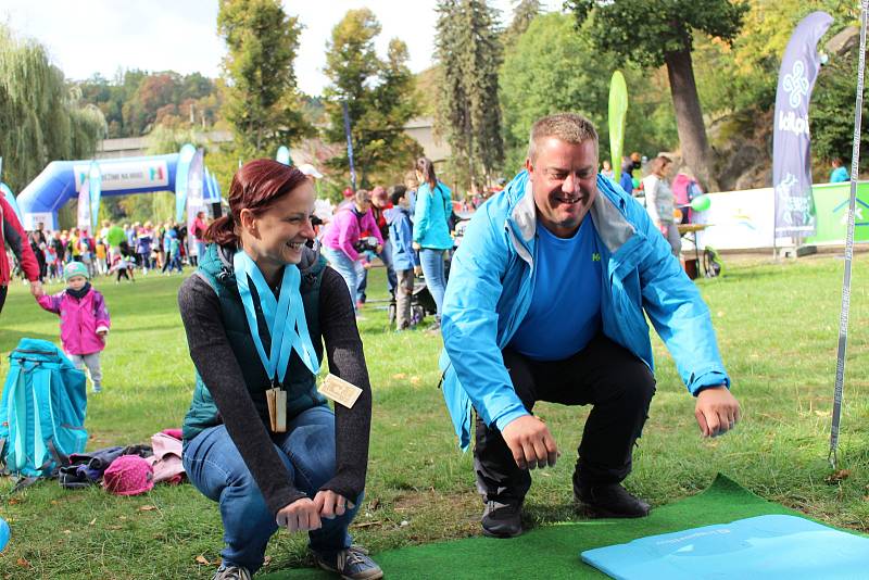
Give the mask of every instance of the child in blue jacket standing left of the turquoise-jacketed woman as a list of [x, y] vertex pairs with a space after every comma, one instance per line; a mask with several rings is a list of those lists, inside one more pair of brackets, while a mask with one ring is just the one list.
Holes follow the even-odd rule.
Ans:
[[411, 224], [411, 200], [407, 188], [390, 188], [391, 210], [385, 212], [389, 224], [389, 240], [392, 244], [392, 267], [399, 278], [395, 292], [395, 328], [411, 328], [411, 297], [414, 293], [414, 273], [419, 268], [419, 259], [413, 249], [413, 225]]

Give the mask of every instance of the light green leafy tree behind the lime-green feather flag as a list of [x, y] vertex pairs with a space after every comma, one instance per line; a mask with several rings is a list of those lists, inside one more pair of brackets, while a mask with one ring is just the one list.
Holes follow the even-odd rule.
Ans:
[[[628, 151], [652, 155], [677, 141], [666, 84], [657, 75], [643, 78], [639, 67], [620, 63], [612, 53], [597, 52], [588, 24], [579, 34], [574, 24], [567, 14], [538, 16], [505, 51], [500, 94], [507, 174], [525, 163], [533, 122], [565, 111], [581, 113], [594, 122], [601, 136], [602, 159], [607, 159], [609, 79], [615, 70], [626, 75], [630, 96], [625, 143]], [[559, 41], [553, 42], [553, 38]]]

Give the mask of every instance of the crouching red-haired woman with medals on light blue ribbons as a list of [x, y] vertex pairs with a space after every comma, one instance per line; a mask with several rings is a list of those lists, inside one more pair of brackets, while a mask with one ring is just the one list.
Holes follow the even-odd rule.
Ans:
[[[245, 164], [229, 215], [209, 227], [178, 292], [197, 369], [184, 466], [221, 504], [216, 579], [250, 578], [278, 528], [307, 531], [327, 570], [382, 577], [348, 533], [365, 486], [371, 392], [347, 285], [306, 247], [313, 209], [314, 187], [297, 168]], [[324, 344], [329, 370], [362, 389], [335, 413], [316, 387]]]

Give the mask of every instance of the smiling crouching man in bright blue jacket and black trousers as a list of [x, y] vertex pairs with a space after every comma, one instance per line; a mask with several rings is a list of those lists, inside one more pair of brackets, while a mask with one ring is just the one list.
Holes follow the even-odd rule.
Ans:
[[537, 401], [592, 405], [574, 496], [599, 517], [642, 517], [621, 482], [655, 392], [652, 320], [696, 396], [705, 437], [732, 429], [730, 393], [707, 306], [629, 193], [597, 174], [597, 133], [580, 115], [531, 129], [526, 171], [471, 218], [443, 304], [443, 395], [474, 450], [483, 533], [522, 532], [530, 469], [561, 446]]

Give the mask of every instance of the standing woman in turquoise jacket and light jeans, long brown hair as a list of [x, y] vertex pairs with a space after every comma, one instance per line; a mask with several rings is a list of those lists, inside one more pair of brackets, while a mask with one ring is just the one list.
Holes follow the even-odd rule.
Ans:
[[430, 327], [437, 329], [440, 326], [443, 292], [446, 289], [443, 252], [453, 247], [448, 222], [453, 213], [452, 192], [438, 181], [434, 165], [428, 157], [417, 160], [416, 177], [419, 188], [416, 190], [413, 248], [419, 251], [423, 276], [426, 277], [428, 290], [438, 306], [437, 321]]

